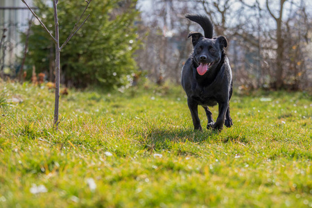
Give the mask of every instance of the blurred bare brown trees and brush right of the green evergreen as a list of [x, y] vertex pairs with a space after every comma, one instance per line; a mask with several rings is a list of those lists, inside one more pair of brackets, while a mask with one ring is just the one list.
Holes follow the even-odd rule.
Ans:
[[191, 12], [208, 15], [214, 35], [227, 37], [236, 87], [312, 89], [311, 1], [268, 0], [268, 6], [263, 0], [149, 2], [150, 9], [141, 13], [139, 31], [148, 35], [145, 39], [141, 35], [145, 48], [137, 51], [136, 59], [155, 83], [159, 78], [180, 80], [182, 64], [192, 49], [187, 34], [202, 31], [184, 18]]

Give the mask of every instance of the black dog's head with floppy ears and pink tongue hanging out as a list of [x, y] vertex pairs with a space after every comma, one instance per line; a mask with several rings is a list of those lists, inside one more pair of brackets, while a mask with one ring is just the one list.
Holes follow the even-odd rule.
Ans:
[[223, 50], [227, 47], [227, 39], [224, 36], [209, 39], [198, 32], [191, 32], [188, 37], [192, 37], [193, 60], [198, 64], [197, 72], [203, 76], [209, 69], [218, 66]]

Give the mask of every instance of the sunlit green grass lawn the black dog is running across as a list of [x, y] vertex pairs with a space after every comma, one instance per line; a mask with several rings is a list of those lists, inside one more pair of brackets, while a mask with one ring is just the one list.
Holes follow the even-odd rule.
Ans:
[[234, 94], [216, 134], [180, 87], [69, 90], [55, 132], [53, 91], [0, 90], [0, 207], [312, 207], [308, 94]]

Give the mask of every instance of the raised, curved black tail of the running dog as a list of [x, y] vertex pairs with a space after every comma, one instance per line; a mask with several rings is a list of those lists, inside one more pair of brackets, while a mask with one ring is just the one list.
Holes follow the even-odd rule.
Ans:
[[185, 17], [191, 21], [198, 23], [204, 30], [206, 38], [212, 38], [214, 33], [214, 25], [211, 23], [211, 20], [206, 15], [196, 15], [196, 14], [186, 14]]

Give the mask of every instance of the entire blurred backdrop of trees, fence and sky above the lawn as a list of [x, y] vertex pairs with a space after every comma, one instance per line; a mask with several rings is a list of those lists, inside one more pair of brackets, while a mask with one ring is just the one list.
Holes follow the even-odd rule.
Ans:
[[[53, 33], [51, 1], [26, 0]], [[58, 3], [60, 42], [85, 1]], [[309, 0], [92, 0], [91, 17], [61, 52], [66, 87], [126, 89], [148, 80], [180, 84], [192, 51], [190, 31], [202, 29], [185, 13], [208, 15], [224, 35], [239, 89], [312, 92], [312, 2]], [[0, 1], [0, 76], [54, 82], [54, 43], [20, 0]]]

